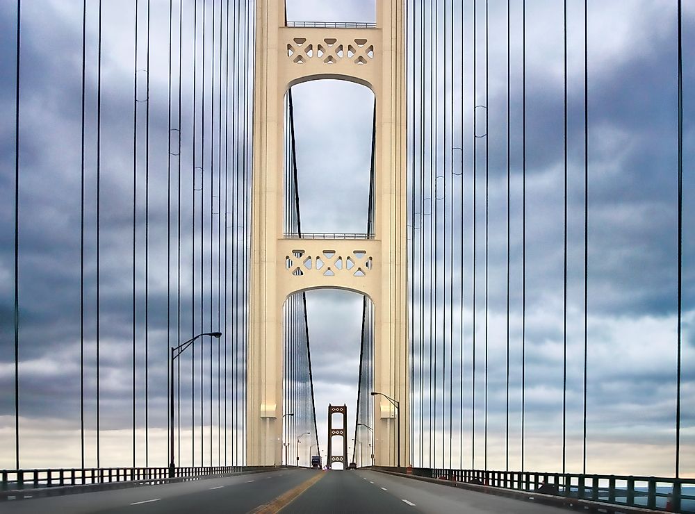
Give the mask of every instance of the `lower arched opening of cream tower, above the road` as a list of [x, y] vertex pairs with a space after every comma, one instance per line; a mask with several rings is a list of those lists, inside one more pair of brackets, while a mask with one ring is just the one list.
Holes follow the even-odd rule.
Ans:
[[[298, 315], [297, 306], [300, 311]], [[299, 331], [297, 325], [302, 325]], [[297, 332], [300, 333], [299, 345]], [[329, 404], [332, 404], [347, 407], [345, 441], [350, 447], [347, 462], [352, 462], [356, 423], [369, 424], [373, 411], [373, 400], [368, 393], [372, 387], [371, 356], [374, 353], [371, 300], [358, 292], [332, 288], [295, 292], [284, 303], [283, 333], [283, 443], [288, 447], [291, 461], [295, 460], [297, 451], [300, 465], [305, 465], [302, 459], [319, 455], [318, 449], [327, 452], [331, 437], [327, 413]], [[295, 342], [292, 342], [293, 339]], [[311, 370], [302, 370], [302, 365], [310, 365]], [[307, 380], [311, 380], [311, 383]], [[310, 387], [311, 392], [307, 394]], [[313, 406], [306, 405], [307, 398], [313, 400]], [[306, 420], [306, 415], [313, 409], [316, 412], [316, 428], [308, 426]], [[287, 416], [287, 413], [293, 416]], [[343, 415], [334, 413], [332, 420], [334, 429], [343, 428]], [[307, 431], [311, 435], [302, 436]], [[315, 431], [318, 437], [314, 436]], [[331, 437], [333, 453], [340, 455], [343, 438], [334, 437]], [[362, 435], [358, 434], [360, 437]], [[300, 438], [299, 443], [297, 438]], [[365, 447], [368, 447], [368, 442], [365, 440]], [[322, 458], [322, 461], [325, 459]]]

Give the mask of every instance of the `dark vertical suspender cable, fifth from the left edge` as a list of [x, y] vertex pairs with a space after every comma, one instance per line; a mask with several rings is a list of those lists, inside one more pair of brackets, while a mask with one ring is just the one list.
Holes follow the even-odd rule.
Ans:
[[147, 97], [145, 99], [145, 467], [149, 466], [149, 33], [147, 0]]

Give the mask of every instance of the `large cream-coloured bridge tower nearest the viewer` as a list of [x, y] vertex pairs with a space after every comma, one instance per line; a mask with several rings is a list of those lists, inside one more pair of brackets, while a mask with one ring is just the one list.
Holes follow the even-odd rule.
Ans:
[[[377, 0], [375, 27], [287, 26], [284, 1], [256, 2], [256, 83], [247, 463], [281, 463], [283, 305], [295, 292], [338, 288], [375, 308], [375, 465], [409, 464], [407, 333], [407, 132], [402, 0]], [[284, 97], [325, 78], [370, 88], [376, 100], [374, 235], [358, 240], [286, 238]], [[336, 100], [339, 101], [339, 100]], [[317, 270], [316, 262], [325, 264]], [[330, 270], [330, 272], [328, 272]], [[400, 415], [399, 415], [400, 414]]]

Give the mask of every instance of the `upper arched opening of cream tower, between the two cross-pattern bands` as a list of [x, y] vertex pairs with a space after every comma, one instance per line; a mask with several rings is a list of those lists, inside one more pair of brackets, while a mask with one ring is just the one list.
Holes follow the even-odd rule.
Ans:
[[368, 234], [374, 208], [375, 96], [342, 79], [285, 95], [285, 227], [300, 234]]

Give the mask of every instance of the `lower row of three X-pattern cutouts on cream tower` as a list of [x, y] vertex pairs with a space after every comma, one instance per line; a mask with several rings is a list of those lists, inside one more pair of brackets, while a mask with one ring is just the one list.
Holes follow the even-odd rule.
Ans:
[[353, 250], [349, 255], [335, 250], [324, 250], [320, 255], [307, 254], [302, 249], [293, 250], [285, 256], [285, 269], [294, 276], [317, 275], [338, 276], [350, 274], [360, 278], [367, 276], [373, 268], [373, 258], [364, 250]]

